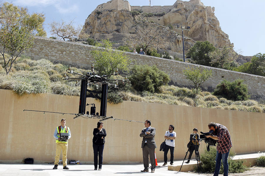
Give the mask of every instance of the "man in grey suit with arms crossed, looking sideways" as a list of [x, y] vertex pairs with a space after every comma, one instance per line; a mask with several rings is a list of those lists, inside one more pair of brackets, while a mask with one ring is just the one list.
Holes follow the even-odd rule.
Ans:
[[150, 120], [145, 121], [145, 127], [142, 129], [142, 132], [140, 133], [140, 137], [143, 137], [142, 141], [142, 148], [143, 148], [143, 162], [144, 162], [144, 170], [141, 170], [141, 172], [148, 172], [149, 167], [149, 160], [148, 155], [150, 156], [151, 161], [151, 172], [155, 172], [155, 128], [151, 127]]

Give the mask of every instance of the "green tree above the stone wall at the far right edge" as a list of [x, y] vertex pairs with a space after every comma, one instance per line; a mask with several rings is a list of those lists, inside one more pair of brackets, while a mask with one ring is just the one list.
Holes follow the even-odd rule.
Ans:
[[250, 62], [234, 68], [234, 71], [265, 76], [265, 54], [258, 53], [251, 58]]

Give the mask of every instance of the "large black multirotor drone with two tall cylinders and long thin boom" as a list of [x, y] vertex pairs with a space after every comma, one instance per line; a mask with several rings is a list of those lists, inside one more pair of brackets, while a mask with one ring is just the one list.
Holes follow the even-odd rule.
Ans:
[[[80, 90], [80, 102], [79, 102], [79, 111], [78, 114], [73, 114], [75, 115], [74, 119], [78, 117], [83, 117], [83, 118], [93, 118], [93, 119], [101, 119], [100, 121], [104, 121], [106, 119], [113, 119], [113, 120], [124, 120], [124, 119], [114, 119], [112, 116], [107, 117], [106, 116], [106, 111], [107, 111], [107, 90], [108, 86], [112, 85], [115, 88], [118, 88], [118, 82], [121, 81], [123, 84], [127, 82], [127, 76], [125, 76], [125, 79], [108, 79], [108, 77], [112, 75], [119, 75], [120, 72], [118, 71], [118, 68], [116, 68], [115, 72], [110, 74], [110, 75], [103, 75], [103, 76], [98, 76], [94, 72], [94, 64], [91, 65], [91, 72], [87, 72], [86, 75], [82, 75], [80, 73], [74, 72], [71, 67], [69, 66], [68, 69], [66, 70], [67, 73], [69, 74], [77, 74], [80, 76], [83, 76], [82, 78], [75, 78], [75, 77], [68, 77], [66, 73], [64, 73], [64, 76], [62, 77], [63, 80], [68, 80], [68, 79], [77, 79], [76, 81], [76, 86], [79, 86], [81, 84], [81, 90]], [[78, 81], [78, 79], [81, 81]], [[115, 81], [115, 84], [110, 83], [110, 81]], [[96, 85], [96, 88], [101, 85], [101, 101], [100, 101], [100, 114], [97, 112], [96, 113], [96, 107], [95, 104], [86, 104], [86, 98], [91, 97], [91, 95], [87, 95], [87, 92], [90, 91], [87, 89], [87, 86], [90, 85]], [[92, 105], [90, 108], [90, 114], [89, 111], [85, 112], [86, 106]], [[26, 110], [24, 109], [23, 111], [36, 111], [36, 110]], [[57, 113], [57, 114], [71, 114], [71, 113], [61, 113], [61, 112], [51, 112], [51, 111], [37, 111], [37, 112], [49, 112], [49, 113]], [[133, 120], [125, 120], [125, 121], [133, 121]], [[140, 121], [134, 121], [134, 122], [140, 122]], [[141, 122], [144, 123], [144, 122]]]

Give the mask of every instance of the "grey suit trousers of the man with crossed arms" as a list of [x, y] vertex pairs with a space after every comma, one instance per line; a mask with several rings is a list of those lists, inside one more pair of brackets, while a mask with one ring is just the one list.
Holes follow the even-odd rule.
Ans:
[[149, 167], [148, 155], [150, 157], [151, 170], [155, 170], [155, 148], [149, 148], [147, 144], [145, 144], [143, 146], [143, 162], [144, 162], [144, 167], [147, 170]]

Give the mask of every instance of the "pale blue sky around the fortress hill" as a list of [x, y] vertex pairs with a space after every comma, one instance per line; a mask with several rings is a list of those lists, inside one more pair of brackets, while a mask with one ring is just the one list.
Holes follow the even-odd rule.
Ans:
[[[4, 0], [5, 1], [5, 0]], [[69, 21], [75, 18], [84, 25], [88, 15], [102, 3], [109, 0], [6, 0], [17, 6], [24, 6], [29, 12], [45, 14], [44, 28], [50, 37], [48, 23], [55, 20]], [[151, 0], [151, 6], [173, 5], [176, 0]], [[242, 55], [252, 56], [265, 53], [265, 1], [264, 0], [201, 0], [205, 6], [215, 7], [215, 16], [221, 29], [229, 35], [234, 49]], [[132, 6], [148, 6], [149, 0], [129, 0]]]

